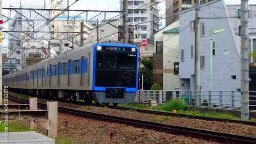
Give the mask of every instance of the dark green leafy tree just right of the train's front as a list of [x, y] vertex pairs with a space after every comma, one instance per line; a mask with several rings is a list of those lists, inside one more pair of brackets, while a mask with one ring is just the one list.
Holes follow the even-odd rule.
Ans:
[[[140, 68], [140, 75], [143, 74], [143, 90], [150, 90], [153, 85], [153, 61], [150, 58], [142, 58], [141, 64], [144, 67]], [[142, 82], [142, 78], [141, 78]], [[141, 85], [142, 87], [142, 85]]]

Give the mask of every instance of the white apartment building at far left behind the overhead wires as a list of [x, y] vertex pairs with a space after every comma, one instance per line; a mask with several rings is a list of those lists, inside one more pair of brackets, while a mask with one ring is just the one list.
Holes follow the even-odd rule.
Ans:
[[[10, 6], [13, 7], [13, 6]], [[38, 5], [22, 5], [20, 8], [37, 8], [37, 9], [44, 9], [44, 6], [38, 6]], [[49, 34], [47, 33], [35, 33], [35, 31], [45, 31], [49, 32], [48, 27], [41, 27], [45, 25], [44, 21], [28, 21], [25, 20], [26, 18], [31, 19], [39, 19], [40, 17], [38, 14], [34, 12], [29, 12], [28, 10], [18, 10], [19, 13], [15, 13], [15, 11], [12, 11], [13, 15], [9, 14], [9, 17], [12, 17], [12, 19], [15, 20], [9, 20], [8, 24], [8, 31], [12, 31], [9, 35], [9, 60], [11, 60], [11, 63], [16, 64], [17, 70], [25, 68], [25, 59], [28, 57], [28, 50], [30, 52], [35, 52], [38, 50], [38, 47], [41, 48], [42, 44], [35, 44], [35, 39], [40, 37], [50, 38]], [[41, 15], [46, 15], [46, 12], [41, 12]], [[20, 32], [22, 31], [22, 32]], [[33, 44], [31, 44], [33, 43]], [[32, 46], [32, 47], [31, 47]], [[34, 47], [37, 46], [37, 47]], [[24, 49], [26, 47], [27, 49]], [[37, 48], [37, 49], [36, 49]], [[41, 54], [43, 54], [41, 52]], [[44, 56], [42, 56], [44, 57]]]

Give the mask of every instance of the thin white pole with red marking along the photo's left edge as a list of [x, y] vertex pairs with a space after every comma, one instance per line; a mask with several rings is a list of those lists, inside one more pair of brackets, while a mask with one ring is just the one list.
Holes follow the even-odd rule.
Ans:
[[2, 33], [2, 28], [3, 28], [3, 6], [2, 6], [2, 0], [0, 0], [0, 85], [1, 85], [1, 88], [0, 88], [0, 104], [2, 105], [2, 85], [3, 85], [3, 82], [2, 82], [2, 77], [3, 77], [3, 59], [2, 59], [2, 56], [3, 56], [3, 50], [2, 50], [2, 40], [3, 40], [3, 33]]

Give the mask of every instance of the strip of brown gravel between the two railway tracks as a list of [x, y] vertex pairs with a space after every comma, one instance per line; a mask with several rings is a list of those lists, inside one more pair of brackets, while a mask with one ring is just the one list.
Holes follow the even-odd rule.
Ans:
[[84, 110], [84, 111], [141, 119], [145, 121], [153, 121], [153, 122], [159, 122], [159, 123], [165, 123], [165, 124], [172, 124], [172, 125], [179, 125], [179, 126], [185, 126], [185, 127], [193, 127], [193, 128], [200, 128], [200, 129], [206, 129], [206, 130], [214, 130], [214, 131], [256, 137], [256, 126], [250, 126], [250, 125], [227, 123], [227, 122], [226, 123], [212, 122], [212, 121], [205, 121], [201, 119], [191, 119], [191, 118], [185, 118], [185, 117], [171, 117], [171, 116], [165, 117], [161, 115], [145, 114], [145, 113], [139, 113], [136, 111], [129, 111], [129, 110], [128, 111], [116, 110], [111, 108], [107, 108], [106, 110], [104, 110], [102, 107], [93, 107], [93, 106], [90, 106], [90, 109], [86, 109], [86, 106], [79, 106], [79, 105], [60, 103], [60, 102], [58, 103], [58, 105], [63, 107]]

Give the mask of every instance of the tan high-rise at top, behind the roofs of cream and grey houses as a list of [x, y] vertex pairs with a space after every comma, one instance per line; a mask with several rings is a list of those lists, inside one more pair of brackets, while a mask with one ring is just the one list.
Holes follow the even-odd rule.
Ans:
[[[204, 4], [210, 1], [212, 0], [201, 0], [200, 4]], [[194, 5], [195, 5], [195, 0], [176, 0], [175, 3], [174, 3], [174, 0], [166, 0], [166, 5], [165, 5], [165, 12], [167, 12], [166, 17], [173, 14], [177, 14], [182, 10], [194, 7]], [[179, 19], [178, 15], [166, 18], [165, 26], [170, 25], [170, 23], [173, 23], [177, 19]]]

